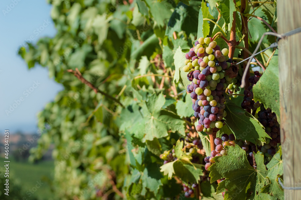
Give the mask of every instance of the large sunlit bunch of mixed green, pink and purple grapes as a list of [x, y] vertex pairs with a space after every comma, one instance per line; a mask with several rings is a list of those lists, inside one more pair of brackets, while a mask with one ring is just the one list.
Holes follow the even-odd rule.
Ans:
[[[212, 38], [199, 38], [194, 47], [186, 54], [183, 70], [188, 78], [193, 76], [187, 91], [191, 93], [194, 116], [200, 117], [197, 131], [212, 134], [223, 127], [223, 117], [227, 115], [223, 93], [233, 79], [226, 75], [231, 66], [227, 48], [220, 51]], [[190, 80], [191, 80], [190, 78]]]

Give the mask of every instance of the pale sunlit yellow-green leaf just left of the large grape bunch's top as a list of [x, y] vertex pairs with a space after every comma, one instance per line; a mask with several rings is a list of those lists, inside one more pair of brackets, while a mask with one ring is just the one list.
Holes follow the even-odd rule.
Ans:
[[184, 86], [184, 88], [186, 88], [190, 82], [187, 79], [186, 72], [183, 71], [183, 67], [185, 66], [184, 61], [186, 60], [186, 58], [185, 53], [182, 52], [180, 46], [175, 51], [173, 59], [175, 64], [175, 75], [173, 76], [173, 82], [180, 82]]

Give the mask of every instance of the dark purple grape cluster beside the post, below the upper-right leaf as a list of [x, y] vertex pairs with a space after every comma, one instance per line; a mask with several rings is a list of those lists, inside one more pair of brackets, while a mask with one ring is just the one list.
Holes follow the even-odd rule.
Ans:
[[272, 139], [265, 138], [266, 142], [263, 146], [258, 146], [258, 149], [265, 155], [264, 162], [269, 162], [272, 156], [279, 150], [278, 143], [280, 143], [280, 128], [277, 122], [275, 112], [272, 113], [271, 109], [265, 109], [262, 105], [260, 111], [257, 113], [258, 121], [264, 126], [265, 132]]

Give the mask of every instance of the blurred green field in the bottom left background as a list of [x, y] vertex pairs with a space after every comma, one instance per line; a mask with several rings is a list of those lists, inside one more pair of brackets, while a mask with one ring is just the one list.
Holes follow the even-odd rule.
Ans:
[[[0, 158], [0, 162], [3, 163], [3, 161], [4, 158]], [[29, 190], [35, 191], [32, 195], [40, 200], [55, 199], [52, 196], [50, 185], [54, 175], [53, 161], [42, 161], [38, 164], [32, 164], [29, 162], [16, 162], [11, 160], [9, 165], [9, 177], [22, 187], [25, 194], [27, 192], [27, 199], [30, 199], [29, 194], [32, 194]], [[41, 181], [40, 183], [42, 185], [36, 189], [37, 181]]]

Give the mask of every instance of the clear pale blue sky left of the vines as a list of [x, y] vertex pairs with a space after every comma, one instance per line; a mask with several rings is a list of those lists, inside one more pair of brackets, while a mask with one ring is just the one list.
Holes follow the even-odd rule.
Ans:
[[63, 87], [49, 78], [48, 68], [28, 69], [17, 49], [55, 35], [51, 5], [46, 0], [3, 0], [0, 11], [0, 130], [36, 132], [37, 113]]

